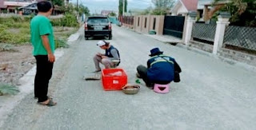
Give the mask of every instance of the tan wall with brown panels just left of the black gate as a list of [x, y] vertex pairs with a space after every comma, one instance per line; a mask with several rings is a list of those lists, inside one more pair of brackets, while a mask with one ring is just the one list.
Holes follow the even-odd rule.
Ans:
[[134, 17], [134, 30], [139, 33], [149, 33], [150, 30], [154, 29], [158, 35], [162, 35], [163, 24], [163, 15], [139, 15]]

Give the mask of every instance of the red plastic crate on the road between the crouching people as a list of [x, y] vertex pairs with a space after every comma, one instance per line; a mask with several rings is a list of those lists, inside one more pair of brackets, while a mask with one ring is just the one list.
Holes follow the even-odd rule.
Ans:
[[[111, 73], [121, 72], [119, 76], [113, 76]], [[103, 69], [102, 70], [102, 85], [104, 90], [122, 90], [122, 87], [127, 84], [127, 74], [123, 69]]]

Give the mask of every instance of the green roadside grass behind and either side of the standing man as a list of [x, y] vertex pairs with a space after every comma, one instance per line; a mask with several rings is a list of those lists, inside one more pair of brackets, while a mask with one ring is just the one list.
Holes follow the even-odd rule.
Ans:
[[[0, 18], [0, 51], [11, 50], [11, 45], [30, 45], [30, 20], [33, 16]], [[78, 30], [76, 18], [66, 14], [51, 19], [54, 26], [55, 47], [68, 47], [67, 38]]]

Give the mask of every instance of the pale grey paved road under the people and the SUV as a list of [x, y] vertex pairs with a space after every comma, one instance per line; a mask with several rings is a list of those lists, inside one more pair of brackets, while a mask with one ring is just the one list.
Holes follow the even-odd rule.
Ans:
[[[128, 82], [137, 65], [146, 65], [150, 49], [159, 47], [182, 67], [170, 93], [141, 85], [136, 95], [102, 90], [101, 81], [84, 81], [94, 71], [98, 39], [83, 38], [66, 49], [54, 65], [50, 94], [56, 107], [36, 104], [33, 93], [14, 108], [0, 129], [255, 129], [256, 74], [217, 58], [113, 27], [111, 44], [119, 49]], [[81, 32], [82, 34], [82, 32]]]

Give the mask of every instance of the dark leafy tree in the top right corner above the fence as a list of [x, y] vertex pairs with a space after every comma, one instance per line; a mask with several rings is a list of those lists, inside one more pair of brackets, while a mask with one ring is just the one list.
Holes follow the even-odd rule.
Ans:
[[[221, 0], [215, 0], [214, 4]], [[256, 1], [230, 0], [219, 11], [228, 11], [231, 14], [230, 24], [234, 26], [256, 27]], [[215, 14], [217, 15], [217, 14]]]

